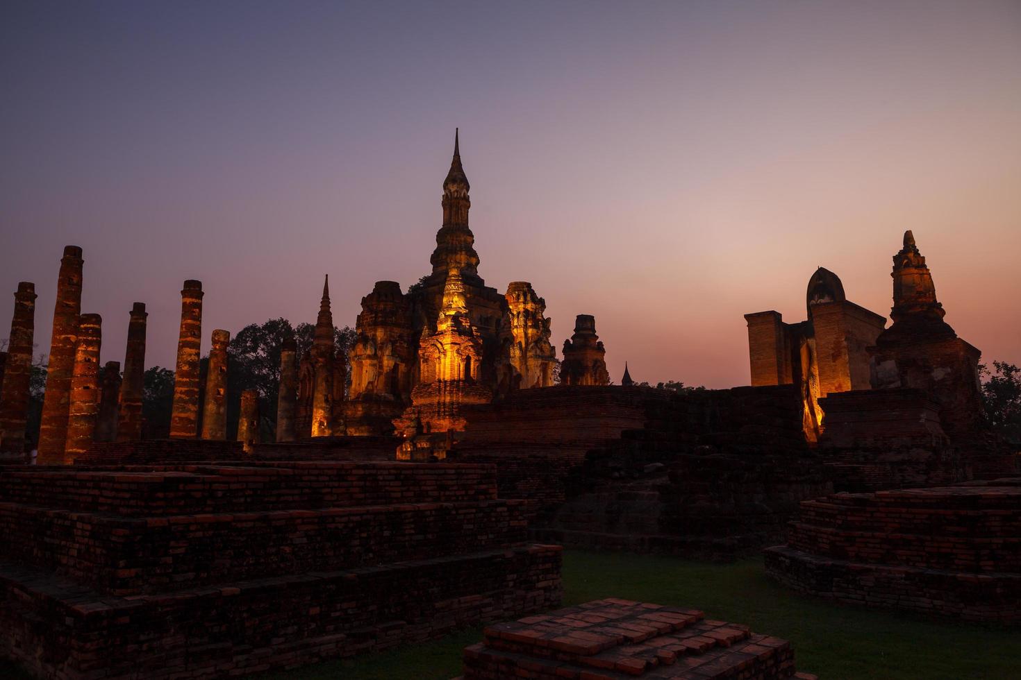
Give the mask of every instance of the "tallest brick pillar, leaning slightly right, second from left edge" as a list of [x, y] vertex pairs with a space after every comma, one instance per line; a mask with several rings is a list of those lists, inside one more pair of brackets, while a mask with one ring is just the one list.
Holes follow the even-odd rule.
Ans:
[[82, 249], [66, 246], [57, 276], [57, 301], [53, 309], [46, 394], [43, 395], [39, 428], [40, 465], [60, 464], [67, 443], [70, 376], [75, 370], [78, 317], [82, 313]]

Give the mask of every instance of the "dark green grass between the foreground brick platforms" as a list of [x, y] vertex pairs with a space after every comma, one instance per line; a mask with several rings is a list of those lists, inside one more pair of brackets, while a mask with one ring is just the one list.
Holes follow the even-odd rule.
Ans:
[[[568, 551], [564, 604], [625, 597], [703, 610], [794, 644], [797, 667], [823, 680], [1021, 680], [1021, 630], [833, 605], [769, 580], [761, 560], [707, 564], [676, 558]], [[448, 680], [482, 628], [260, 680]], [[9, 670], [0, 664], [0, 677]]]

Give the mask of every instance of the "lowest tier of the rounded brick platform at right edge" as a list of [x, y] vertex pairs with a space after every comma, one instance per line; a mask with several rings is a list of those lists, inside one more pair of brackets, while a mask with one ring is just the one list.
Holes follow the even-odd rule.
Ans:
[[799, 592], [868, 607], [998, 624], [1021, 623], [1021, 573], [864, 564], [787, 545], [764, 552], [766, 572]]

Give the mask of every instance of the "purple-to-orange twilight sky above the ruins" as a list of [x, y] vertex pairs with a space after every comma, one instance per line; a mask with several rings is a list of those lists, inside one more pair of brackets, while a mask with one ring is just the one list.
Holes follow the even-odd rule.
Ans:
[[430, 271], [454, 126], [479, 273], [532, 281], [611, 375], [748, 382], [742, 314], [817, 266], [891, 304], [914, 229], [946, 321], [1021, 363], [1021, 3], [65, 2], [0, 8], [0, 337], [49, 348], [62, 248], [123, 361], [213, 328], [354, 325]]

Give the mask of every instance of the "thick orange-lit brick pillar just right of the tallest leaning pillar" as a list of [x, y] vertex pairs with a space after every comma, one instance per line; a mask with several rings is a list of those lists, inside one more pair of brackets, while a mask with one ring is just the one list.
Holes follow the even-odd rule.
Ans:
[[102, 318], [83, 314], [78, 323], [78, 346], [70, 379], [67, 444], [63, 463], [70, 464], [92, 448], [99, 415], [99, 344]]

